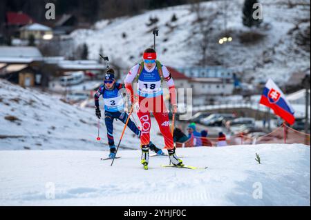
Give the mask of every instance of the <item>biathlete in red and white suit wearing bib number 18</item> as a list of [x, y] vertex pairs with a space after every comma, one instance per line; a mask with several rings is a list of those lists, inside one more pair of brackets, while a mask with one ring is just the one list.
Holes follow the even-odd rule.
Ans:
[[182, 160], [178, 158], [173, 145], [173, 137], [169, 128], [169, 112], [164, 105], [162, 81], [166, 81], [169, 86], [171, 95], [171, 106], [173, 112], [177, 112], [176, 89], [173, 79], [167, 67], [157, 61], [156, 51], [149, 48], [144, 51], [144, 61], [133, 68], [125, 79], [125, 86], [131, 93], [131, 103], [134, 103], [132, 83], [138, 83], [138, 94], [135, 102], [138, 101], [138, 117], [142, 123], [142, 135], [140, 143], [142, 148], [142, 164], [148, 166], [149, 163], [149, 143], [151, 118], [150, 112], [153, 113], [160, 132], [164, 137], [165, 149], [169, 152], [169, 159], [175, 166], [182, 166]]

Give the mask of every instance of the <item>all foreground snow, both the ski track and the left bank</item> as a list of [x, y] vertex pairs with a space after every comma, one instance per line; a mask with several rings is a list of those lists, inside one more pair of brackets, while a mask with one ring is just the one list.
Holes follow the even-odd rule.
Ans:
[[[0, 206], [310, 206], [310, 146], [178, 149], [185, 164], [209, 168], [161, 168], [169, 159], [151, 157], [143, 170], [140, 150], [124, 150], [140, 146], [128, 131], [111, 167], [92, 109], [3, 80], [0, 94]], [[122, 128], [115, 122], [116, 140]]]

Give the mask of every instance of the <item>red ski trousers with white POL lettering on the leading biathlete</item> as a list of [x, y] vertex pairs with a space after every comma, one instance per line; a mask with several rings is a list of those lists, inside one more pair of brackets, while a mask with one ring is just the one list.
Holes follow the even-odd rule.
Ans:
[[142, 146], [149, 145], [150, 143], [150, 130], [151, 130], [151, 118], [150, 112], [153, 113], [160, 132], [164, 137], [165, 149], [172, 150], [173, 137], [171, 135], [171, 129], [169, 128], [169, 112], [164, 105], [163, 97], [156, 98], [144, 98], [139, 97], [140, 109], [138, 110], [138, 117], [140, 123], [142, 123], [142, 135], [140, 137], [140, 143]]

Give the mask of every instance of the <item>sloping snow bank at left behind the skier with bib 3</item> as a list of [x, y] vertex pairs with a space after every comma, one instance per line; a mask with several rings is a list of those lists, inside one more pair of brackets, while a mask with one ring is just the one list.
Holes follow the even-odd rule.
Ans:
[[[0, 150], [107, 150], [103, 119], [102, 141], [96, 141], [97, 122], [93, 109], [70, 106], [50, 94], [23, 89], [0, 79]], [[158, 126], [153, 127], [151, 132], [156, 137]], [[115, 121], [115, 142], [122, 129], [122, 122]], [[140, 147], [139, 139], [132, 134], [126, 130], [123, 148]], [[160, 148], [164, 146], [161, 138], [152, 141]]]

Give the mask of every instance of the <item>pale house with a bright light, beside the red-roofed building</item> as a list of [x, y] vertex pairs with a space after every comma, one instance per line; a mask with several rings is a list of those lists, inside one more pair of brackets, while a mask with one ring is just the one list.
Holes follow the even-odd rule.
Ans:
[[19, 29], [21, 39], [30, 39], [33, 36], [36, 40], [53, 39], [53, 30], [48, 26], [39, 23], [32, 23]]

